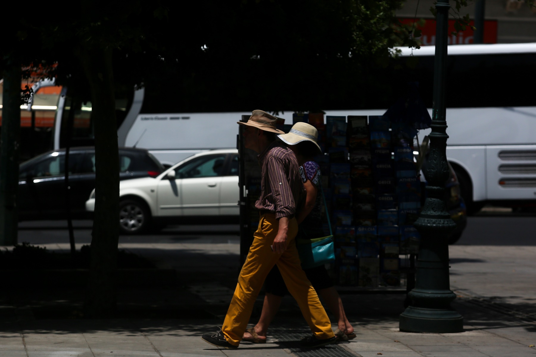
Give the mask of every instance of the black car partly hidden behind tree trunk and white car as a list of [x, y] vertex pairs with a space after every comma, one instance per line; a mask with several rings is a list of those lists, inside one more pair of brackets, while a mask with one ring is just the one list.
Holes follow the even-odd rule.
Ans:
[[[145, 149], [119, 149], [119, 179], [157, 177], [160, 162]], [[72, 218], [86, 218], [85, 202], [95, 188], [95, 148], [69, 151], [69, 195]], [[19, 220], [64, 219], [65, 150], [49, 151], [19, 166]]]

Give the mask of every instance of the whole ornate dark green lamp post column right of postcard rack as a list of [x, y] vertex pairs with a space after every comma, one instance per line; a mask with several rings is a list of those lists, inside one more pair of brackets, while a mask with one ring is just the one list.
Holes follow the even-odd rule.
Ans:
[[436, 4], [437, 25], [434, 64], [434, 108], [430, 151], [425, 176], [427, 198], [419, 219], [414, 223], [421, 234], [416, 263], [415, 288], [408, 294], [411, 305], [400, 315], [400, 331], [461, 332], [463, 317], [450, 307], [456, 294], [450, 290], [449, 245], [447, 237], [456, 227], [446, 211], [445, 183], [449, 178], [446, 161], [446, 55], [449, 0]]

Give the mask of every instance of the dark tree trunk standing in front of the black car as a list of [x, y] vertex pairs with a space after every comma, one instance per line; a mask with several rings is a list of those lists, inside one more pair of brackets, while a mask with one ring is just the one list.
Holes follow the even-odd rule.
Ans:
[[86, 317], [107, 317], [116, 308], [119, 239], [119, 154], [112, 50], [84, 48], [81, 63], [91, 87], [95, 133], [95, 215]]

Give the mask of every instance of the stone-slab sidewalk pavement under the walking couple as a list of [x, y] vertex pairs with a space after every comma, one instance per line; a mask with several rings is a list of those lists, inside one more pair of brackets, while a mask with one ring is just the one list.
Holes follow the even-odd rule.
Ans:
[[[400, 332], [398, 315], [404, 310], [404, 294], [345, 294], [341, 297], [357, 338], [314, 351], [297, 347], [300, 336], [309, 332], [289, 297], [284, 298], [264, 345], [243, 343], [238, 350], [228, 351], [200, 340], [202, 333], [215, 331], [223, 321], [239, 269], [236, 241], [122, 244], [121, 248], [177, 270], [181, 283], [175, 290], [123, 291], [118, 298], [123, 309], [136, 309], [141, 302], [152, 304], [164, 312], [159, 318], [40, 318], [31, 303], [21, 306], [12, 301], [11, 306], [0, 308], [0, 356], [536, 355], [536, 247], [450, 247], [452, 289], [458, 294], [452, 306], [464, 316], [464, 332]], [[258, 318], [261, 298], [251, 323]], [[199, 318], [181, 318], [189, 309]], [[166, 311], [174, 318], [165, 318]]]

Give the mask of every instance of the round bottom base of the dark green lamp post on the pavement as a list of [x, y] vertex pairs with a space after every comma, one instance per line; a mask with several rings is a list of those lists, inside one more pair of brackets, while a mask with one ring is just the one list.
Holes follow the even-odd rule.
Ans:
[[453, 309], [409, 306], [400, 314], [400, 331], [453, 333], [464, 330], [464, 318]]

